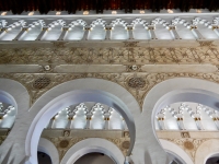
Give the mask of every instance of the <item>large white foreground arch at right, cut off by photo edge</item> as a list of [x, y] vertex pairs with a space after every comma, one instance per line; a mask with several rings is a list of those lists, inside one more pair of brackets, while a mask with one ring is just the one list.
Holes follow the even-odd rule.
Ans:
[[[158, 137], [155, 134], [154, 130], [154, 115], [158, 108], [162, 108], [165, 105], [169, 105], [170, 103], [177, 102], [185, 95], [189, 95], [194, 102], [197, 102], [195, 99], [196, 94], [198, 94], [201, 99], [205, 99], [208, 97], [208, 99], [211, 99], [211, 105], [207, 104], [207, 101], [205, 103], [201, 102], [201, 104], [207, 105], [209, 107], [215, 108], [217, 106], [217, 99], [219, 99], [219, 85], [214, 82], [209, 82], [206, 80], [200, 79], [193, 79], [193, 78], [175, 78], [165, 80], [155, 86], [153, 86], [149, 93], [146, 95], [143, 99], [142, 105], [142, 117], [145, 117], [146, 125], [147, 125], [147, 131], [148, 133], [153, 134], [153, 137], [146, 140], [146, 142], [149, 145], [153, 145], [153, 149], [155, 149], [157, 153], [152, 153], [149, 151], [151, 159], [155, 159], [157, 154], [160, 154], [160, 159], [157, 160], [157, 163], [162, 163], [162, 161], [166, 161], [168, 156], [164, 150], [161, 149], [160, 141], [158, 140]], [[191, 94], [192, 93], [192, 94]], [[177, 95], [177, 96], [175, 96]], [[174, 97], [175, 96], [175, 97]], [[187, 97], [188, 98], [188, 97]], [[181, 101], [187, 101], [181, 99]], [[188, 101], [191, 102], [191, 99]], [[198, 103], [198, 102], [197, 102]], [[218, 109], [218, 107], [216, 108]]]

